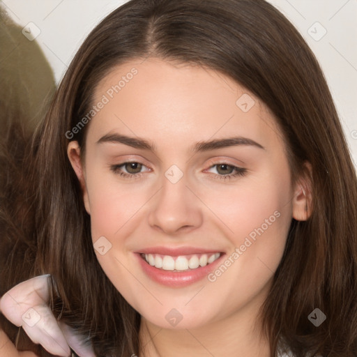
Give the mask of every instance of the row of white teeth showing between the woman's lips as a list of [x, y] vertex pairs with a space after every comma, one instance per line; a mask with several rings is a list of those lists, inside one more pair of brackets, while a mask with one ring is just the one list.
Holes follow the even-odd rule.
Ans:
[[160, 254], [141, 254], [147, 264], [154, 266], [162, 271], [182, 272], [192, 271], [197, 268], [209, 265], [217, 260], [222, 253], [192, 254], [172, 257], [171, 255]]

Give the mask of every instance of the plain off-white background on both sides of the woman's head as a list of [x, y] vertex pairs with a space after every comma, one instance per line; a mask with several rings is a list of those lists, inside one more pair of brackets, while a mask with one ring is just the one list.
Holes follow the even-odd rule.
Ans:
[[[179, 1], [179, 0], [177, 0]], [[268, 0], [301, 32], [324, 70], [357, 167], [357, 0]], [[54, 70], [56, 82], [79, 45], [103, 17], [126, 1], [3, 0], [2, 5], [22, 26], [40, 29], [36, 41]], [[307, 32], [326, 35], [314, 40]], [[312, 29], [312, 30], [311, 30]]]

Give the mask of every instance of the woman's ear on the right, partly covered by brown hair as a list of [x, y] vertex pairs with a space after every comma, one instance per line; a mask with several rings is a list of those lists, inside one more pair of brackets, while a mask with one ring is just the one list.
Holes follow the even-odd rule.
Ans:
[[301, 176], [296, 181], [293, 197], [293, 218], [307, 220], [312, 213], [312, 166], [305, 162]]

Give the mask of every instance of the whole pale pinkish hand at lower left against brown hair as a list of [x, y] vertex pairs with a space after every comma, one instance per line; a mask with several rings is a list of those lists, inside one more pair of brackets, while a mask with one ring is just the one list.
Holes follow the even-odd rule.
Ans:
[[95, 357], [72, 328], [54, 318], [48, 306], [49, 276], [40, 275], [10, 289], [0, 299], [0, 312], [14, 325], [22, 326], [31, 340], [50, 354], [68, 357], [71, 348], [78, 356]]

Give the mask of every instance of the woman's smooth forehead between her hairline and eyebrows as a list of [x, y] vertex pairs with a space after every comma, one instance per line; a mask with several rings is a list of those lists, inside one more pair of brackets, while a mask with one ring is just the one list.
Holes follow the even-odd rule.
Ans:
[[218, 71], [187, 63], [123, 63], [96, 87], [93, 105], [100, 102], [105, 104], [90, 123], [93, 140], [121, 132], [179, 149], [232, 134], [263, 146], [280, 137], [273, 114], [250, 91]]

